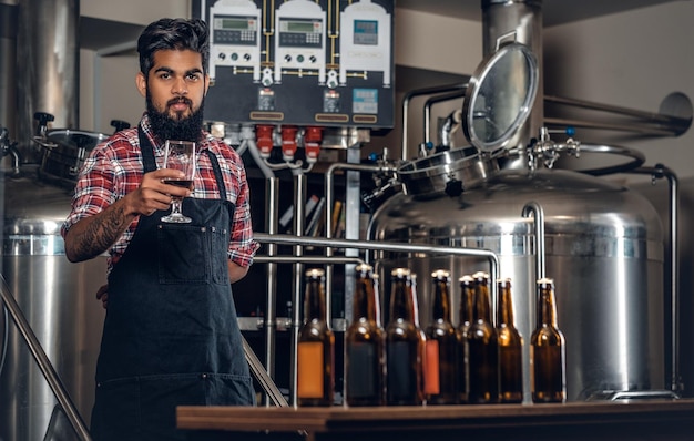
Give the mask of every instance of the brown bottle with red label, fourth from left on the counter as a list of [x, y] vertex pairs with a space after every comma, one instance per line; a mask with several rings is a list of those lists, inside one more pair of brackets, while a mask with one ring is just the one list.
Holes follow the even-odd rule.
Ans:
[[425, 331], [425, 396], [427, 404], [455, 404], [458, 401], [456, 328], [450, 319], [450, 274], [431, 274], [433, 297], [431, 321]]

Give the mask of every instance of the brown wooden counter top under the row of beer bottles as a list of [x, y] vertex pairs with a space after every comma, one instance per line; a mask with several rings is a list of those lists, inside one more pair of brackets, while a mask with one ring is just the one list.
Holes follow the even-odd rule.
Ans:
[[[180, 429], [307, 440], [694, 440], [694, 400], [378, 408], [178, 407]], [[232, 433], [237, 432], [237, 433]], [[481, 437], [481, 438], [478, 438]]]

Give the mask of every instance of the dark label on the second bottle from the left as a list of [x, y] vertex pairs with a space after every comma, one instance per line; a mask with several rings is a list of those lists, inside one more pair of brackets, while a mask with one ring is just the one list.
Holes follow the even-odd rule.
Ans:
[[378, 397], [379, 360], [376, 346], [355, 342], [347, 348], [347, 397]]

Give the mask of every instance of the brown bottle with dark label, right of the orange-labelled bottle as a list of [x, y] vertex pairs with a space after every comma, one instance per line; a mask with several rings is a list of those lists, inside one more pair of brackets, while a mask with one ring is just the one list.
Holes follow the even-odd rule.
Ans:
[[345, 334], [348, 406], [385, 403], [385, 335], [380, 324], [378, 278], [370, 265], [356, 268], [353, 321]]

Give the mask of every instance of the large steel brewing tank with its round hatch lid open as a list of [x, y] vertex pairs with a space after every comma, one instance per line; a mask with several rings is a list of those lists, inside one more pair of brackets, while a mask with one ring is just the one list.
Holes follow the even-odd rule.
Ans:
[[[545, 131], [538, 142], [527, 140], [527, 151], [518, 155], [527, 166], [504, 167], [509, 158], [516, 161], [508, 140], [525, 122], [534, 100], [535, 70], [532, 52], [522, 44], [500, 48], [482, 62], [463, 104], [466, 137], [474, 147], [401, 165], [396, 174], [404, 192], [374, 213], [368, 238], [498, 254], [499, 276], [511, 278], [517, 326], [524, 338], [525, 401], [535, 279], [542, 275], [555, 283], [559, 327], [567, 340], [568, 399], [660, 393], [665, 389], [664, 249], [656, 211], [608, 178], [552, 168], [560, 152], [575, 153], [580, 145], [571, 139], [553, 143]], [[498, 106], [503, 112], [496, 112]], [[449, 269], [457, 280], [489, 269], [486, 260], [473, 257], [377, 257], [385, 297], [390, 268], [407, 266], [420, 276], [422, 326], [432, 270]], [[460, 291], [457, 286], [453, 291], [457, 312]]]

